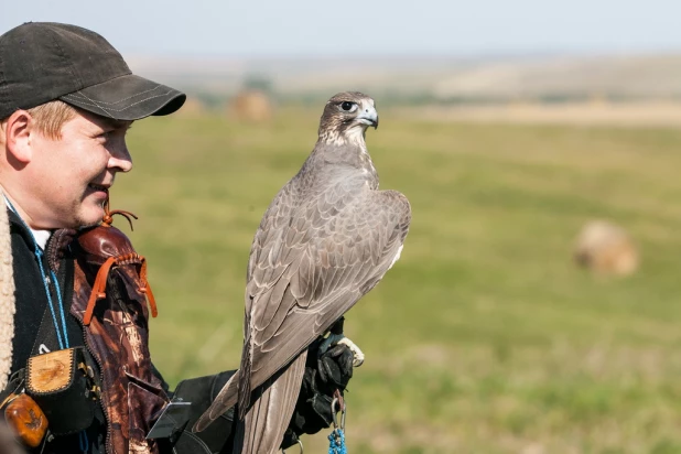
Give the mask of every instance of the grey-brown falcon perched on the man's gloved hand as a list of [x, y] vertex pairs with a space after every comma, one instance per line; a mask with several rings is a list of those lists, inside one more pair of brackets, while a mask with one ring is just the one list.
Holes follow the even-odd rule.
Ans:
[[279, 450], [307, 347], [400, 257], [411, 208], [399, 192], [378, 190], [369, 127], [378, 128], [374, 99], [357, 91], [331, 98], [314, 150], [260, 221], [248, 261], [241, 364], [194, 426], [203, 431], [238, 403], [235, 452]]

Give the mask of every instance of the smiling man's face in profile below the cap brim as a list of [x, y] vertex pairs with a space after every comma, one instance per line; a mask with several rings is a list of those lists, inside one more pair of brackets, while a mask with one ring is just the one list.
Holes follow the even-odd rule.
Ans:
[[132, 169], [126, 145], [130, 125], [78, 112], [64, 123], [61, 139], [32, 132], [26, 176], [34, 184], [35, 227], [78, 228], [101, 220], [116, 174]]

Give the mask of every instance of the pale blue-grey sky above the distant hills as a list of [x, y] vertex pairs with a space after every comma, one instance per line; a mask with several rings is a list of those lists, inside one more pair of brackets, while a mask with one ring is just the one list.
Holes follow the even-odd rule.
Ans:
[[681, 52], [679, 0], [1, 0], [0, 33], [82, 25], [123, 55], [477, 56]]

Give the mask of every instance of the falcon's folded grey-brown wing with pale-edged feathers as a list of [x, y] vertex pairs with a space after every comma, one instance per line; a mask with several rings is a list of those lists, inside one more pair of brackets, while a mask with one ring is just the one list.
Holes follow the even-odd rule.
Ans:
[[411, 220], [409, 202], [394, 191], [353, 187], [327, 190], [288, 225], [271, 216], [274, 225], [258, 230], [240, 400], [324, 334], [397, 259]]

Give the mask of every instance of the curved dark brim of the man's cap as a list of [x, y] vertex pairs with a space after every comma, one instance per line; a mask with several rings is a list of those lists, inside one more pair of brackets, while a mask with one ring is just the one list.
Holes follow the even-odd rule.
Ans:
[[186, 95], [133, 74], [116, 77], [60, 97], [89, 112], [117, 120], [139, 120], [180, 109]]

